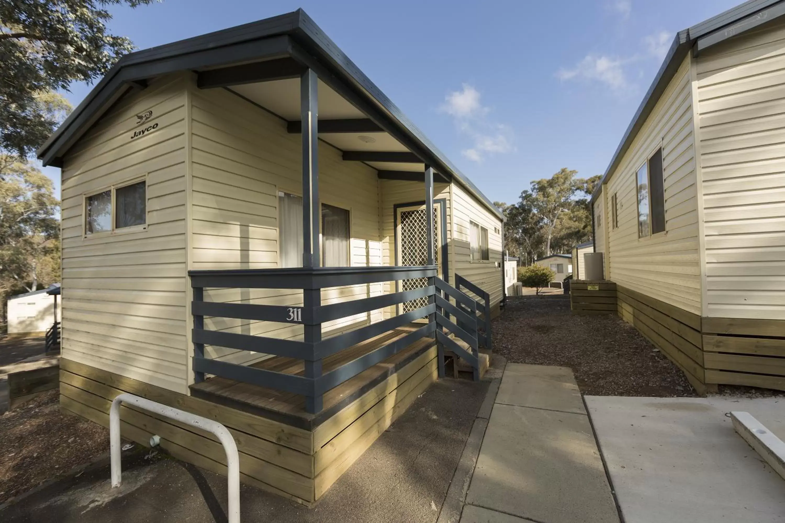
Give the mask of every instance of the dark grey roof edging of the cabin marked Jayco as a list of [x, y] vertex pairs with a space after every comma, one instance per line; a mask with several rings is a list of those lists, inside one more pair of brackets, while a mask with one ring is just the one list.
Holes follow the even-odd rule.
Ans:
[[[43, 165], [60, 166], [61, 158], [68, 147], [89, 129], [101, 112], [106, 110], [130, 82], [174, 71], [195, 70], [206, 65], [216, 67], [243, 60], [253, 61], [254, 45], [259, 45], [258, 42], [265, 38], [269, 40], [283, 36], [288, 36], [294, 45], [305, 49], [321, 66], [327, 67], [330, 74], [334, 74], [352, 89], [354, 94], [374, 105], [386, 121], [402, 133], [403, 144], [418, 153], [420, 158], [425, 158], [425, 163], [432, 165], [440, 173], [453, 176], [488, 210], [504, 220], [504, 215], [493, 202], [439, 151], [302, 9], [122, 56], [60, 128], [38, 149], [38, 158]], [[243, 47], [243, 52], [246, 53], [243, 56], [231, 52], [222, 53], [230, 45], [241, 44], [250, 44], [250, 47]], [[416, 85], [416, 82], [412, 85]]]

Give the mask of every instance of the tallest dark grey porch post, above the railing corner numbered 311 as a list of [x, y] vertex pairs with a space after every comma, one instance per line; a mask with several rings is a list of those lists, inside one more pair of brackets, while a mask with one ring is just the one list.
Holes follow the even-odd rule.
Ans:
[[319, 162], [317, 159], [319, 85], [316, 73], [300, 75], [300, 118], [302, 122], [302, 266], [319, 267]]

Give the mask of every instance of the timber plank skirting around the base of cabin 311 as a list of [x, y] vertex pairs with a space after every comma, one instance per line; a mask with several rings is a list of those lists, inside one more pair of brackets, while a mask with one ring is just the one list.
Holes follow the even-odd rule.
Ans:
[[[241, 481], [310, 506], [436, 376], [436, 347], [431, 347], [318, 427], [305, 430], [62, 358], [60, 409], [108, 427], [111, 401], [130, 392], [215, 419], [235, 438]], [[177, 459], [226, 474], [224, 449], [213, 434], [125, 405], [120, 419], [123, 438], [149, 446], [150, 437], [158, 434], [161, 447]]]

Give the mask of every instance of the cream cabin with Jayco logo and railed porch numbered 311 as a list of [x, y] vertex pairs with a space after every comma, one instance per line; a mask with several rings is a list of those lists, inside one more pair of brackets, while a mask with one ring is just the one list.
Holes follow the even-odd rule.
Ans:
[[[216, 419], [243, 481], [309, 505], [446, 366], [487, 368], [502, 213], [302, 10], [122, 57], [38, 155], [65, 411]], [[225, 474], [208, 434], [121, 417]]]

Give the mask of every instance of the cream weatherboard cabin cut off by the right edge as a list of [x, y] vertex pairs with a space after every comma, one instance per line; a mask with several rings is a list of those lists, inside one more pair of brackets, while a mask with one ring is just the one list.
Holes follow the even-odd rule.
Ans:
[[699, 391], [785, 390], [783, 13], [679, 31], [592, 197], [618, 313]]

